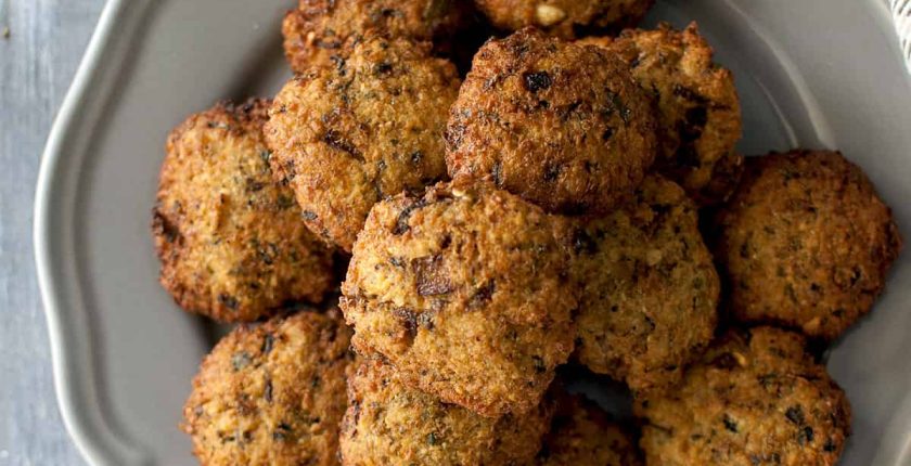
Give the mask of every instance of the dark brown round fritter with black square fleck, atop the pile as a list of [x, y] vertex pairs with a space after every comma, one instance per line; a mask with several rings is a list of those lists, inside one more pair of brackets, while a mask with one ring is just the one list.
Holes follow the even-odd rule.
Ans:
[[488, 178], [573, 213], [610, 210], [657, 147], [652, 106], [625, 63], [534, 29], [475, 55], [446, 137], [453, 178]]

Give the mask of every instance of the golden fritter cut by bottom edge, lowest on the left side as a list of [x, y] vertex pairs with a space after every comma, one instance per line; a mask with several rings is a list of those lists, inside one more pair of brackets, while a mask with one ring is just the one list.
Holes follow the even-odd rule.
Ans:
[[200, 463], [338, 464], [349, 340], [337, 311], [241, 325], [222, 338], [183, 407]]

